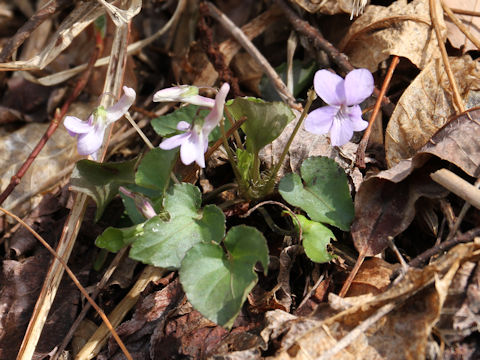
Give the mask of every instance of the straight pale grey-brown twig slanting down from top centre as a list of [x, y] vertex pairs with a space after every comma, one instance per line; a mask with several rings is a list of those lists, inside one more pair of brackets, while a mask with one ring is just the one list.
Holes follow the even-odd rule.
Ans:
[[230, 20], [223, 12], [221, 12], [215, 5], [211, 2], [206, 3], [210, 12], [210, 15], [220, 22], [225, 29], [237, 40], [240, 45], [257, 61], [257, 63], [262, 67], [263, 71], [272, 81], [275, 89], [277, 90], [280, 97], [291, 107], [295, 109], [300, 109], [299, 105], [293, 95], [288, 90], [287, 86], [280, 78], [275, 69], [270, 65], [268, 60], [262, 55], [260, 51], [253, 45], [253, 43], [245, 36], [243, 31], [236, 26], [232, 20]]

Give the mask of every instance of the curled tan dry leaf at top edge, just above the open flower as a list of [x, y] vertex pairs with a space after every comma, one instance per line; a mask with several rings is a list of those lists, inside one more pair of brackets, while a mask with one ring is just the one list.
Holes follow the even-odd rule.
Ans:
[[[442, 9], [437, 6], [442, 34], [445, 34]], [[443, 40], [443, 39], [442, 39]], [[428, 0], [395, 1], [389, 7], [367, 6], [339, 44], [355, 67], [374, 72], [390, 55], [408, 58], [423, 69], [440, 57], [437, 38], [430, 26]]]

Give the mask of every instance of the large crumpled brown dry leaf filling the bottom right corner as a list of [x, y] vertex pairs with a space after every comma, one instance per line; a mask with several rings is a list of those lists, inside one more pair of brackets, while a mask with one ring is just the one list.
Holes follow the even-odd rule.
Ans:
[[[362, 331], [334, 359], [424, 359], [433, 326], [443, 307], [446, 289], [465, 261], [479, 256], [478, 245], [461, 244], [424, 269], [411, 268], [396, 286], [375, 297], [345, 298], [350, 307], [319, 313], [324, 320], [295, 318], [280, 310], [266, 314], [266, 343], [280, 342], [269, 359], [315, 359], [388, 303], [393, 311]], [[335, 297], [333, 297], [335, 298]]]

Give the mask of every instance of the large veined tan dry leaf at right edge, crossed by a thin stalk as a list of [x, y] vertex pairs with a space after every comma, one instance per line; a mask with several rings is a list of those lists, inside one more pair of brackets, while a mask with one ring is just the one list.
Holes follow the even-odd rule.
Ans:
[[[480, 103], [480, 63], [470, 56], [450, 58], [460, 95], [467, 108]], [[389, 167], [413, 156], [455, 114], [450, 85], [441, 60], [431, 62], [400, 98], [385, 134]]]

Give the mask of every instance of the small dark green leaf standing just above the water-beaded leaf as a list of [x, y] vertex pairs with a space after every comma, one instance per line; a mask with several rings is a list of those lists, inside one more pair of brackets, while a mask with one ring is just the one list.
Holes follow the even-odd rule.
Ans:
[[175, 165], [178, 149], [162, 150], [155, 148], [150, 150], [140, 162], [135, 183], [150, 189], [159, 190], [162, 194], [168, 187], [170, 172]]

